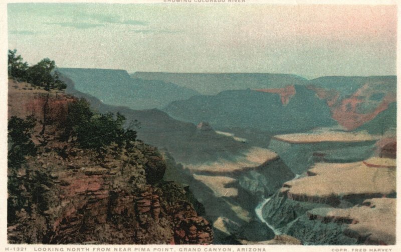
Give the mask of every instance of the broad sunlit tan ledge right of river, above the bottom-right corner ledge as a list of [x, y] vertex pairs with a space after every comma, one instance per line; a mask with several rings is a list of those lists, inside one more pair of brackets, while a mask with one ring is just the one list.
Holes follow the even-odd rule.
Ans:
[[317, 163], [308, 176], [284, 183], [280, 195], [289, 199], [338, 206], [371, 197], [394, 197], [395, 160], [374, 157], [355, 163]]

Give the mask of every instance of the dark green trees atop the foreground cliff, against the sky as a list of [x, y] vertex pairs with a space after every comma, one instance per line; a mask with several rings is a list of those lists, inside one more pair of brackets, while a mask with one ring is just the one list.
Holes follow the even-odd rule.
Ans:
[[29, 66], [21, 55], [17, 55], [17, 50], [9, 50], [9, 77], [18, 81], [26, 81], [32, 85], [44, 87], [46, 90], [67, 88], [67, 84], [59, 78], [56, 70], [56, 63], [49, 58], [45, 58], [34, 66]]

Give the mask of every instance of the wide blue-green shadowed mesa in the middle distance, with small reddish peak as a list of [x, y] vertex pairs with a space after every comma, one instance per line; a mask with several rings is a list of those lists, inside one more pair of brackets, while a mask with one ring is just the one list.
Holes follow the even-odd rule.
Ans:
[[332, 126], [327, 104], [305, 86], [283, 104], [278, 94], [253, 90], [224, 91], [216, 96], [193, 96], [174, 101], [164, 110], [187, 121], [208, 121], [216, 128], [256, 128], [266, 132], [296, 132]]

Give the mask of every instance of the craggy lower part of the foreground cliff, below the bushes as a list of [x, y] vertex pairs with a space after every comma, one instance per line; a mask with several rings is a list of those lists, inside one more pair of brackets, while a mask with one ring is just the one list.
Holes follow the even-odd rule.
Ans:
[[[140, 142], [133, 150], [110, 146], [100, 157], [73, 148], [67, 159], [40, 151], [17, 171], [16, 186], [33, 204], [16, 211], [9, 242], [212, 243], [212, 227], [198, 216], [189, 192], [174, 182], [146, 182], [164, 174], [155, 148]], [[31, 195], [31, 182], [41, 191]]]

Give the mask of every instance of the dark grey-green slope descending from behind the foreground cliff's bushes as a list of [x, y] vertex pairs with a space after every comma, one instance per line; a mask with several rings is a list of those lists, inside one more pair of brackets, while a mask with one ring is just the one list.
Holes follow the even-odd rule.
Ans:
[[241, 152], [249, 148], [245, 143], [231, 137], [219, 135], [214, 131], [200, 130], [194, 124], [175, 120], [157, 109], [132, 110], [104, 104], [90, 94], [77, 91], [70, 79], [65, 81], [68, 84], [66, 93], [86, 98], [95, 110], [102, 113], [121, 112], [127, 118], [128, 126], [137, 120], [139, 126], [134, 126], [134, 129], [138, 132], [138, 138], [159, 148], [167, 148], [179, 162], [231, 159], [233, 156], [242, 155]]

